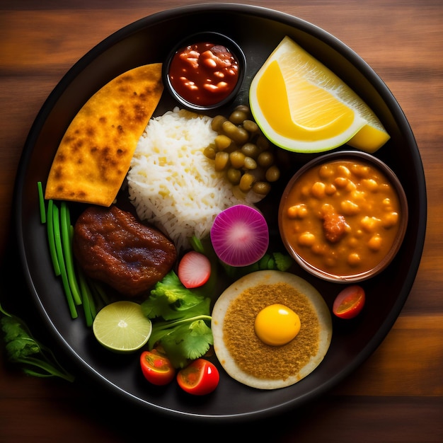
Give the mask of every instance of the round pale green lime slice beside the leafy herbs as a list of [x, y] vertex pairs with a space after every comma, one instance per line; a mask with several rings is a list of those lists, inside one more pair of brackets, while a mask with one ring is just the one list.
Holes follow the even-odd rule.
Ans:
[[114, 352], [134, 352], [146, 345], [152, 323], [134, 301], [115, 301], [101, 309], [92, 325], [98, 342]]

